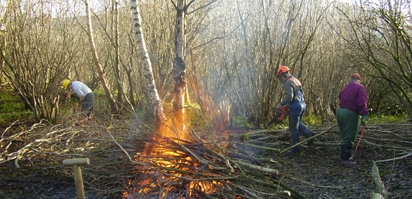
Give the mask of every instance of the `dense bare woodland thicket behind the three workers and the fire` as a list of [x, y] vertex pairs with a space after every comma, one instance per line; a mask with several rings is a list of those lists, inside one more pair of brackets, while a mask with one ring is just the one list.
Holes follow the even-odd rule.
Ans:
[[[52, 123], [66, 102], [66, 78], [118, 103], [113, 109], [101, 102], [107, 108], [95, 116], [152, 116], [130, 2], [90, 2], [94, 50], [109, 92], [101, 88], [90, 48], [85, 2], [1, 1], [1, 83], [36, 119]], [[411, 114], [408, 0], [182, 2], [187, 99], [202, 113], [217, 111], [227, 123], [233, 116], [267, 123], [283, 97], [276, 69], [286, 65], [304, 86], [309, 115], [333, 111], [352, 73], [361, 74], [375, 112]], [[167, 105], [173, 101], [176, 2], [138, 5], [155, 86]]]

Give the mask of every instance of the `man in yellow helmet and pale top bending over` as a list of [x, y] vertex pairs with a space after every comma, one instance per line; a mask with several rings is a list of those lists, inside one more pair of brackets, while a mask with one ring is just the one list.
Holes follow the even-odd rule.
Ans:
[[68, 79], [63, 81], [63, 86], [66, 89], [70, 89], [66, 97], [70, 97], [73, 92], [76, 93], [76, 95], [80, 98], [78, 105], [81, 104], [81, 112], [88, 118], [91, 118], [94, 101], [94, 94], [92, 90], [80, 81], [69, 81]]

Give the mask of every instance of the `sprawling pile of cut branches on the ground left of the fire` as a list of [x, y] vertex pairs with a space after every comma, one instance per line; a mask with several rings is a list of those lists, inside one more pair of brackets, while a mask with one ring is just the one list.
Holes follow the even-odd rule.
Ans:
[[[49, 183], [59, 187], [66, 184], [66, 177], [73, 179], [73, 170], [64, 167], [63, 160], [89, 158], [90, 165], [82, 167], [87, 198], [119, 198], [127, 180], [133, 176], [133, 165], [128, 163], [122, 149], [131, 154], [143, 149], [143, 137], [150, 132], [146, 128], [146, 131], [136, 130], [134, 125], [125, 121], [68, 121], [66, 125], [50, 125], [48, 121], [41, 120], [31, 126], [15, 122], [1, 132], [0, 164], [14, 162], [16, 172], [27, 168], [33, 172], [41, 170], [50, 176], [39, 177], [49, 179]], [[118, 144], [122, 144], [122, 149]], [[48, 190], [50, 185], [43, 187], [39, 179], [36, 186], [41, 191], [41, 188]], [[59, 193], [58, 198], [73, 198], [75, 195], [73, 187], [69, 193]]]

